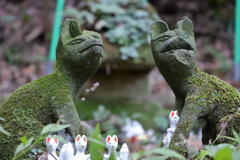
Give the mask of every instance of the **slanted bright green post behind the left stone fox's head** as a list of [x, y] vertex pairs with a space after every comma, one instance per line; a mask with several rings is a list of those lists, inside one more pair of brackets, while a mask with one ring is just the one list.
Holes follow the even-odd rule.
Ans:
[[49, 58], [47, 64], [47, 74], [51, 73], [53, 70], [53, 64], [56, 59], [56, 47], [58, 43], [58, 38], [60, 35], [61, 24], [62, 24], [62, 12], [64, 8], [64, 0], [57, 0], [55, 20], [52, 30], [52, 39], [49, 50]]

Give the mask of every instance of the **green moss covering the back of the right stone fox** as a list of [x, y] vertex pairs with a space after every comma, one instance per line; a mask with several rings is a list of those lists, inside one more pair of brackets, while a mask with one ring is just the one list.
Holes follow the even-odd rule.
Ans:
[[[211, 121], [212, 125], [217, 126], [216, 133], [220, 133], [222, 129], [220, 127], [221, 123], [227, 123], [226, 136], [233, 136], [232, 129], [240, 133], [238, 127], [240, 124], [240, 113], [238, 111], [238, 107], [240, 106], [240, 93], [216, 76], [208, 75], [199, 70], [194, 76], [190, 77], [188, 81], [191, 83], [189, 87], [198, 91], [195, 99], [191, 99], [193, 107], [196, 104], [195, 102], [202, 99], [204, 100], [204, 102], [198, 104], [205, 107], [206, 111], [208, 110], [208, 112], [213, 113]], [[215, 138], [216, 136], [217, 135], [215, 135]], [[231, 143], [231, 141], [227, 139], [225, 139], [224, 142]], [[222, 140], [221, 143], [223, 143]]]

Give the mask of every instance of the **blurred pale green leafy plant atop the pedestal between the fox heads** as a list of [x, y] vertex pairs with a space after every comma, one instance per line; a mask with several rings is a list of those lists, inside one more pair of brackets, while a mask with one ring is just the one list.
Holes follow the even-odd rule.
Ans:
[[88, 0], [79, 8], [66, 9], [65, 16], [77, 18], [86, 28], [102, 33], [108, 43], [120, 46], [122, 60], [139, 58], [139, 47], [149, 45], [150, 24], [159, 19], [146, 1]]

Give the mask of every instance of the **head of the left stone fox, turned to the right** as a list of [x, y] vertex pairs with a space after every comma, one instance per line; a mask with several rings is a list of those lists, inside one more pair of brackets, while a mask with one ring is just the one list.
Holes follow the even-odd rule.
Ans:
[[55, 68], [63, 67], [68, 72], [76, 72], [78, 76], [81, 74], [81, 77], [86, 79], [97, 71], [102, 57], [101, 35], [87, 30], [82, 32], [77, 20], [67, 19], [57, 46]]

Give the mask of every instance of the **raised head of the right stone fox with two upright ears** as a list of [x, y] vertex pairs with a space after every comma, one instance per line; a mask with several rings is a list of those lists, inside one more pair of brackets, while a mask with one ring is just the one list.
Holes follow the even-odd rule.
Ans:
[[[150, 28], [151, 49], [155, 63], [163, 74], [183, 76], [197, 68], [196, 44], [191, 20], [184, 17], [175, 30], [169, 30], [164, 21], [155, 21]], [[165, 77], [166, 78], [166, 77]]]

